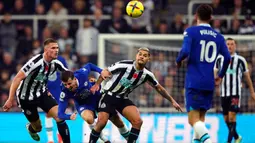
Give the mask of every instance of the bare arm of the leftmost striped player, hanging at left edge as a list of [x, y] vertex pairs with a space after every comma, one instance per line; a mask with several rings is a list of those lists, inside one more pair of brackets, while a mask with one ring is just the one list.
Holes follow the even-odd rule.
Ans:
[[11, 87], [10, 87], [10, 91], [9, 91], [9, 98], [8, 100], [5, 102], [4, 106], [3, 106], [3, 110], [5, 112], [9, 111], [9, 109], [12, 107], [12, 102], [15, 99], [15, 92], [19, 87], [20, 82], [26, 78], [26, 75], [23, 71], [19, 71], [17, 73], [17, 75], [13, 78]]

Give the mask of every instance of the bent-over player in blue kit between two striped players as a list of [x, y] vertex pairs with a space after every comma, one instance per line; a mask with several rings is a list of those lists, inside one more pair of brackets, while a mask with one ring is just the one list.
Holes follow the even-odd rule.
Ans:
[[[62, 80], [62, 92], [59, 98], [59, 110], [58, 116], [60, 119], [64, 120], [75, 120], [76, 113], [71, 115], [65, 114], [67, 108], [68, 100], [73, 99], [75, 102], [75, 107], [80, 116], [89, 124], [91, 129], [94, 128], [96, 109], [98, 106], [99, 99], [101, 98], [100, 91], [92, 94], [90, 88], [94, 85], [95, 82], [89, 81], [90, 71], [95, 71], [98, 73], [102, 72], [102, 69], [97, 66], [88, 63], [83, 68], [71, 72], [64, 71], [61, 73]], [[111, 115], [110, 120], [118, 127], [120, 134], [127, 138], [129, 135], [129, 130], [118, 116], [117, 112]], [[100, 139], [104, 142], [109, 143], [110, 141], [101, 133]]]

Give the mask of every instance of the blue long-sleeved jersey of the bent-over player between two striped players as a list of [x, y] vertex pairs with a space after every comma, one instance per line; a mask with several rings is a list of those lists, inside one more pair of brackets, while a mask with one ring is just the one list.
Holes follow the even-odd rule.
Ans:
[[78, 88], [75, 91], [70, 91], [61, 84], [61, 94], [59, 97], [59, 110], [58, 116], [61, 119], [69, 120], [70, 115], [65, 114], [67, 108], [68, 100], [73, 99], [78, 108], [81, 105], [89, 105], [96, 108], [97, 103], [100, 98], [100, 91], [97, 91], [95, 94], [90, 92], [90, 88], [94, 83], [89, 82], [89, 73], [90, 71], [95, 71], [101, 73], [102, 69], [97, 66], [88, 63], [83, 68], [74, 72], [74, 77], [77, 79]]

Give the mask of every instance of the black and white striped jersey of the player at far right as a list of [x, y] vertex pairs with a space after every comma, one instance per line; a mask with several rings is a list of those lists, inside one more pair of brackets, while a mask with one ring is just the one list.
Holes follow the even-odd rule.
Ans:
[[[248, 65], [244, 57], [234, 54], [231, 56], [231, 63], [228, 66], [226, 75], [221, 83], [221, 96], [241, 96], [242, 75], [248, 72]], [[219, 55], [215, 62], [215, 69], [220, 70], [224, 57]]]

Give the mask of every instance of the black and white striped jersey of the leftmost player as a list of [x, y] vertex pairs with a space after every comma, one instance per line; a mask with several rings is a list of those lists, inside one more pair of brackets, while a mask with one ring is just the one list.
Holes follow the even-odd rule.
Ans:
[[67, 70], [59, 60], [50, 63], [43, 59], [42, 54], [32, 57], [21, 70], [26, 78], [21, 81], [16, 95], [19, 100], [32, 101], [47, 91], [48, 77], [56, 71]]

